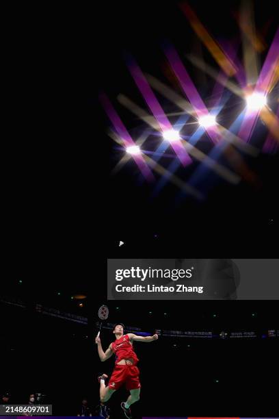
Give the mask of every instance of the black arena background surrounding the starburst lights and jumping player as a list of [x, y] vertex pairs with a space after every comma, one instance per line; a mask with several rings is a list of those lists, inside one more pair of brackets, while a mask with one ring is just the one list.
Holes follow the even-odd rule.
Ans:
[[[237, 34], [230, 12], [239, 2], [191, 4], [213, 36]], [[122, 152], [105, 133], [109, 124], [97, 93], [105, 90], [117, 105], [117, 94], [124, 92], [145, 107], [122, 51], [129, 50], [144, 71], [159, 78], [165, 65], [161, 38], [169, 38], [181, 56], [193, 51], [197, 41], [176, 2], [18, 8], [7, 20], [5, 39], [12, 47], [5, 68], [16, 113], [3, 159], [1, 296], [20, 297], [27, 309], [1, 304], [0, 387], [22, 402], [40, 389], [55, 413], [75, 414], [84, 395], [93, 405], [98, 402], [96, 376], [113, 366], [112, 360], [101, 364], [94, 346], [96, 312], [106, 296], [106, 258], [277, 257], [278, 156], [248, 161], [262, 182], [256, 190], [217, 182], [204, 203], [183, 199], [174, 205], [178, 191], [168, 186], [152, 200], [152, 188], [138, 185], [133, 166], [107, 176]], [[256, 5], [256, 24], [260, 29], [269, 24], [270, 45], [276, 27], [271, 2]], [[204, 77], [191, 66], [189, 73], [197, 84]], [[200, 81], [200, 93], [207, 93], [208, 81]], [[137, 129], [138, 121], [117, 106], [125, 125]], [[88, 296], [82, 309], [70, 299], [76, 292]], [[37, 301], [82, 312], [88, 327], [36, 314]], [[157, 301], [146, 307], [122, 301], [120, 314], [116, 303], [110, 305], [110, 318], [152, 333], [158, 325], [261, 331], [278, 329], [277, 305]], [[108, 332], [103, 341], [104, 346], [111, 342]], [[137, 344], [142, 399], [133, 411], [138, 416], [276, 416], [277, 341], [191, 340], [190, 349], [187, 340], [174, 348], [168, 338]], [[111, 399], [116, 417], [123, 397], [125, 392]]]

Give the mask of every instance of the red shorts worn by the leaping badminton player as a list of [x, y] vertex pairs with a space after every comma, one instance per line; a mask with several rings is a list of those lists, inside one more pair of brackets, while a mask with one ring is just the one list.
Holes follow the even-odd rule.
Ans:
[[117, 365], [109, 380], [109, 388], [118, 390], [122, 384], [126, 383], [127, 390], [137, 390], [140, 388], [139, 368], [135, 365]]

